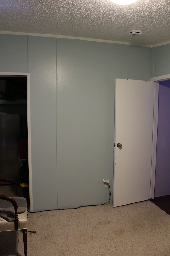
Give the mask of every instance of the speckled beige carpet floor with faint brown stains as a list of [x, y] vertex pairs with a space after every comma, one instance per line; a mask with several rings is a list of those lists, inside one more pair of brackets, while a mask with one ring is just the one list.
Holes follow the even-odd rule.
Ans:
[[[170, 215], [150, 200], [28, 213], [27, 255], [169, 256]], [[24, 255], [22, 232], [0, 232], [0, 255]]]

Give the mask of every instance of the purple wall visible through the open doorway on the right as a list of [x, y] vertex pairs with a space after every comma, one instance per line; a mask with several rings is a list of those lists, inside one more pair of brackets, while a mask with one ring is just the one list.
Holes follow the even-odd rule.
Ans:
[[155, 197], [170, 195], [170, 80], [159, 82]]

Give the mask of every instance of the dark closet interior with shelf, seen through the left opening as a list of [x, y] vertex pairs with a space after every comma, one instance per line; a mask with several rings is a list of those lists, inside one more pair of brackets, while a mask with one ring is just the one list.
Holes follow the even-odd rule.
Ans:
[[20, 167], [28, 158], [27, 77], [0, 77], [0, 121], [0, 178], [20, 184]]

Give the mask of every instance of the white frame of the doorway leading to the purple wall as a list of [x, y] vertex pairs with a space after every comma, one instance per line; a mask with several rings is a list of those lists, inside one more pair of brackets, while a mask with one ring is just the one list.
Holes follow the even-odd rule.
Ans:
[[155, 173], [156, 173], [156, 146], [157, 146], [157, 129], [158, 129], [158, 98], [159, 98], [159, 83], [160, 81], [169, 80], [170, 74], [152, 77], [154, 81], [154, 122], [153, 122], [153, 142], [152, 142], [152, 167], [151, 167], [151, 189], [150, 198], [154, 198], [155, 192]]

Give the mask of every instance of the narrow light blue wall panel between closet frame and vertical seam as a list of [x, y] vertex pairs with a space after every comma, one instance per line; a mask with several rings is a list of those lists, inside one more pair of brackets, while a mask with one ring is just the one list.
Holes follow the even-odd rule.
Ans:
[[28, 37], [33, 209], [57, 209], [56, 38]]

